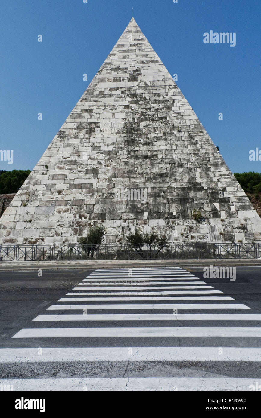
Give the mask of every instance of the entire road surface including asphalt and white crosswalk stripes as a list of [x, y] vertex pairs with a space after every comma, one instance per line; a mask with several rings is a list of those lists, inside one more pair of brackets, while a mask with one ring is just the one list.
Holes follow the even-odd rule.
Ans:
[[261, 389], [261, 267], [38, 274], [0, 272], [2, 390]]

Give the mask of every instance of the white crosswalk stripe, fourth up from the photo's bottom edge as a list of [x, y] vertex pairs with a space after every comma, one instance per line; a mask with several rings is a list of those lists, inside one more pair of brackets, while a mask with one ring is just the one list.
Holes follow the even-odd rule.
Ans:
[[49, 314], [33, 321], [261, 321], [261, 314]]

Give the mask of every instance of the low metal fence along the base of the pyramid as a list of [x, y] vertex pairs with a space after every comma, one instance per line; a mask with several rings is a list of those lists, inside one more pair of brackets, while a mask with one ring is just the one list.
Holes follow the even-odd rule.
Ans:
[[0, 262], [55, 260], [169, 260], [261, 258], [261, 243], [175, 243], [159, 246], [128, 244], [0, 245]]

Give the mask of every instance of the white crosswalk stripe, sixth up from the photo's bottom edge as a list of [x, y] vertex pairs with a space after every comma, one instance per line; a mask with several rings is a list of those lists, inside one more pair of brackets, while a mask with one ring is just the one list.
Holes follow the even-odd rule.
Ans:
[[106, 302], [106, 301], [234, 301], [230, 296], [164, 296], [134, 298], [61, 298], [57, 302]]

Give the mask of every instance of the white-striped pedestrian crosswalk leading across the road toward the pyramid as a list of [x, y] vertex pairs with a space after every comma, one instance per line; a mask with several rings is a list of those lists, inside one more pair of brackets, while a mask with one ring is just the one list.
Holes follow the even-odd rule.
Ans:
[[[24, 365], [23, 377], [0, 379], [0, 385], [14, 390], [249, 390], [261, 364], [261, 348], [255, 346], [261, 314], [249, 310], [183, 268], [96, 269], [33, 318], [30, 328], [13, 335], [25, 348], [0, 349], [0, 363]], [[29, 365], [54, 362], [62, 377], [26, 374]], [[194, 376], [187, 362], [194, 365]], [[248, 364], [253, 375], [200, 372], [207, 362], [234, 362], [237, 370]], [[81, 364], [80, 371], [65, 377], [69, 364], [75, 370]]]

